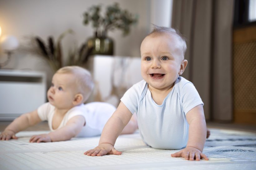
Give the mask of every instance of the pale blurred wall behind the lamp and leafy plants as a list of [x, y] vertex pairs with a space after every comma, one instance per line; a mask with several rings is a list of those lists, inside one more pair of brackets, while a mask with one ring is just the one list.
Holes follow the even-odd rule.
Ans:
[[[157, 21], [161, 21], [162, 18], [165, 22], [164, 15], [170, 15], [170, 12], [165, 12], [166, 8], [159, 9], [165, 3], [168, 3], [166, 6], [169, 7], [168, 1], [172, 0], [159, 0], [154, 3], [150, 0], [0, 0], [0, 26], [2, 35], [14, 35], [20, 44], [26, 44], [24, 36], [38, 35], [46, 40], [52, 35], [56, 40], [62, 32], [72, 29], [75, 35], [68, 35], [62, 41], [63, 54], [67, 56], [74, 43], [81, 45], [93, 35], [91, 25], [82, 24], [83, 13], [92, 5], [102, 4], [106, 7], [119, 2], [122, 9], [137, 14], [139, 22], [131, 27], [131, 32], [126, 37], [123, 37], [119, 30], [108, 33], [115, 41], [115, 55], [140, 57], [140, 43], [150, 32], [152, 17]], [[152, 6], [157, 8], [151, 10]], [[3, 54], [1, 56], [0, 62], [5, 57]], [[44, 60], [21, 51], [16, 51], [12, 55], [11, 62], [5, 68], [46, 71], [48, 81], [52, 77], [52, 71]]]

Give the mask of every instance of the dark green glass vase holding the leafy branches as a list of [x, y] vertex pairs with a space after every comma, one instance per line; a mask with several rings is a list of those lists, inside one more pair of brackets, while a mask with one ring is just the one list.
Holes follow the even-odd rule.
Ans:
[[87, 40], [88, 48], [93, 48], [91, 54], [113, 55], [114, 41], [106, 36], [105, 31], [96, 31], [94, 37]]

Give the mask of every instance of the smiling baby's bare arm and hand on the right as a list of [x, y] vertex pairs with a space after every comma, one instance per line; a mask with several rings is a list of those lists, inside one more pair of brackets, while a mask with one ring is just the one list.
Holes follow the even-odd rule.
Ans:
[[186, 148], [171, 154], [172, 157], [184, 157], [186, 160], [197, 160], [204, 158], [209, 160], [203, 154], [204, 143], [206, 140], [206, 123], [204, 118], [204, 109], [202, 104], [192, 108], [187, 114], [186, 119], [189, 123], [189, 140]]

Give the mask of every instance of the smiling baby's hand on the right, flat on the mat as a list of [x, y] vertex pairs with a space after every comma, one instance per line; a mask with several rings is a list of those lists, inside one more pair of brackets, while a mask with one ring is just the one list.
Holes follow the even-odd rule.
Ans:
[[200, 150], [194, 148], [194, 147], [186, 147], [179, 152], [176, 152], [175, 154], [171, 154], [172, 157], [183, 157], [186, 160], [193, 161], [194, 159], [196, 161], [199, 161], [200, 159], [209, 160], [208, 157], [203, 154]]

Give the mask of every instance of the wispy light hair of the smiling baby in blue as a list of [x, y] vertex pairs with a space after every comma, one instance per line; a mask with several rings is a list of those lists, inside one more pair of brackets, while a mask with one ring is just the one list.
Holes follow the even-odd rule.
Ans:
[[184, 58], [185, 52], [187, 50], [186, 39], [180, 34], [179, 30], [175, 30], [175, 29], [170, 28], [170, 27], [154, 25], [154, 29], [150, 32], [150, 34], [148, 34], [148, 36], [163, 34], [163, 33], [168, 33], [168, 34], [175, 35], [175, 37], [180, 42], [180, 50], [181, 50], [182, 57]]

